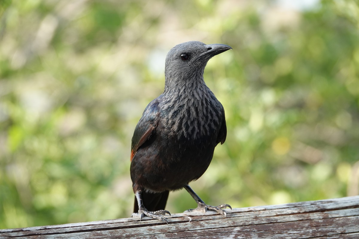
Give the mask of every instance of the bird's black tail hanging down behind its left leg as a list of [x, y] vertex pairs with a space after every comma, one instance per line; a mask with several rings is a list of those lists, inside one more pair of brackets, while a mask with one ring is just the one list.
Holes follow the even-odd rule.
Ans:
[[[164, 210], [169, 191], [151, 193], [142, 191], [143, 205], [148, 211]], [[138, 203], [135, 197], [134, 212], [138, 212]]]

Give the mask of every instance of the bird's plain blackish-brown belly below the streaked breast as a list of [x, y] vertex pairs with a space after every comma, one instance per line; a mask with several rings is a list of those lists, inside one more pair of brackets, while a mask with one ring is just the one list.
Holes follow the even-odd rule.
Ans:
[[[158, 148], [156, 154], [144, 162], [142, 176], [151, 191], [177, 190], [196, 180], [206, 171], [213, 157], [215, 143], [210, 138], [200, 142], [170, 140], [171, 145]], [[155, 152], [154, 150], [149, 150]], [[149, 152], [148, 151], [148, 152]]]

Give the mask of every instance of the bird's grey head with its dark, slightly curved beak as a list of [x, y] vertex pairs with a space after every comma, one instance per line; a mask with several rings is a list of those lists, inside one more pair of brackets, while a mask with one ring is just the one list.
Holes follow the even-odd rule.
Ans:
[[224, 44], [206, 45], [198, 41], [178, 44], [168, 52], [166, 57], [166, 85], [203, 78], [203, 71], [208, 60], [229, 49], [232, 47]]

